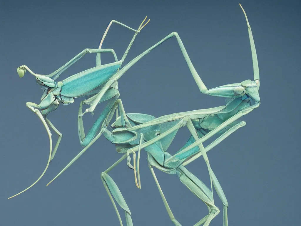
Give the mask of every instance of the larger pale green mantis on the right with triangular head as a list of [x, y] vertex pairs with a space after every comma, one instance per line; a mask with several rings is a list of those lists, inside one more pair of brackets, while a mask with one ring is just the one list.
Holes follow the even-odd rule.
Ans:
[[[244, 11], [244, 10], [243, 10]], [[172, 214], [172, 211], [164, 197], [163, 191], [160, 188], [160, 184], [156, 178], [153, 167], [169, 173], [178, 174], [179, 179], [184, 183], [189, 190], [191, 190], [197, 197], [199, 197], [208, 207], [209, 214], [203, 217], [195, 225], [206, 225], [208, 226], [212, 219], [219, 213], [219, 209], [215, 206], [213, 200], [213, 186], [215, 187], [220, 199], [223, 202], [223, 224], [228, 225], [228, 202], [225, 197], [224, 192], [210, 167], [208, 157], [206, 152], [228, 137], [231, 133], [236, 131], [238, 128], [245, 125], [245, 122], [237, 123], [237, 120], [248, 114], [253, 109], [259, 107], [260, 99], [258, 94], [259, 89], [259, 69], [257, 63], [257, 56], [255, 45], [253, 41], [252, 31], [250, 24], [248, 22], [247, 16], [244, 12], [247, 20], [247, 27], [250, 36], [250, 45], [252, 51], [253, 59], [253, 70], [254, 70], [254, 80], [245, 80], [241, 83], [228, 84], [224, 86], [219, 86], [213, 89], [207, 89], [199, 75], [197, 74], [194, 66], [192, 65], [189, 56], [185, 50], [185, 47], [178, 36], [177, 33], [173, 32], [169, 36], [166, 36], [160, 42], [152, 46], [150, 49], [139, 55], [137, 61], [143, 57], [145, 54], [150, 52], [152, 49], [159, 46], [161, 43], [165, 42], [171, 37], [176, 37], [180, 49], [184, 55], [184, 58], [188, 64], [188, 67], [193, 75], [201, 93], [208, 94], [210, 96], [220, 96], [228, 98], [225, 106], [220, 106], [216, 108], [202, 109], [187, 111], [181, 113], [175, 113], [171, 115], [161, 116], [159, 118], [154, 118], [151, 115], [144, 114], [125, 114], [124, 109], [122, 109], [121, 115], [118, 115], [117, 104], [111, 108], [109, 114], [103, 121], [102, 129], [98, 135], [94, 138], [97, 139], [103, 133], [107, 140], [112, 143], [116, 143], [116, 150], [120, 153], [125, 153], [116, 163], [114, 163], [110, 168], [101, 173], [101, 179], [107, 190], [107, 193], [113, 203], [116, 210], [117, 216], [119, 218], [120, 224], [122, 221], [117, 210], [116, 202], [119, 206], [125, 210], [126, 223], [127, 225], [132, 224], [131, 212], [120, 192], [117, 185], [113, 179], [107, 174], [111, 169], [113, 169], [117, 164], [119, 164], [123, 159], [127, 158], [127, 165], [130, 168], [134, 168], [135, 183], [138, 188], [141, 188], [140, 183], [140, 173], [139, 173], [139, 158], [141, 149], [147, 151], [148, 165], [151, 173], [155, 179], [157, 187], [159, 189], [160, 195], [163, 199], [166, 210], [169, 214], [171, 221], [176, 225], [181, 225]], [[135, 59], [133, 61], [135, 61]], [[126, 67], [126, 66], [125, 66]], [[121, 71], [121, 70], [120, 70]], [[119, 73], [119, 72], [118, 72]], [[116, 74], [118, 74], [116, 73]], [[122, 73], [120, 73], [122, 74]], [[121, 75], [120, 75], [121, 76]], [[111, 81], [113, 82], [113, 81]], [[105, 86], [110, 86], [110, 82], [106, 83]], [[101, 90], [96, 97], [96, 102], [101, 100], [104, 96], [105, 89]], [[253, 104], [254, 102], [254, 104]], [[91, 105], [92, 108], [93, 104]], [[120, 109], [120, 106], [119, 106]], [[107, 125], [113, 117], [116, 110], [116, 121], [112, 124], [112, 127], [116, 127], [113, 131], [107, 130]], [[79, 118], [87, 112], [92, 112], [87, 109], [84, 113], [79, 114]], [[120, 110], [121, 111], [121, 110]], [[172, 142], [175, 134], [180, 127], [187, 126], [191, 132], [191, 137], [188, 139], [187, 143], [178, 151], [175, 155], [170, 155], [166, 150], [168, 149], [170, 143]], [[203, 147], [203, 142], [208, 140], [213, 135], [220, 133], [218, 137], [211, 144]], [[83, 149], [54, 179], [60, 176], [80, 155], [85, 151]], [[138, 152], [138, 160], [136, 166], [136, 153]], [[133, 154], [134, 167], [132, 167], [129, 155]], [[197, 177], [191, 174], [184, 166], [188, 163], [194, 161], [198, 157], [203, 155], [203, 158], [208, 167], [211, 190], [207, 188]], [[136, 173], [137, 170], [137, 173]], [[54, 180], [53, 179], [53, 180]], [[51, 180], [51, 182], [53, 181]], [[50, 182], [50, 183], [51, 183]], [[49, 184], [50, 184], [49, 183]], [[112, 197], [113, 196], [113, 197]]]

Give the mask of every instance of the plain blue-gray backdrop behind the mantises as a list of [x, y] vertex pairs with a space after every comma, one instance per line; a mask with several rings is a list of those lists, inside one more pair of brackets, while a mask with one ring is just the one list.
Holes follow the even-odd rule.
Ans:
[[[300, 206], [300, 2], [283, 1], [1, 1], [1, 158], [0, 225], [118, 225], [100, 173], [120, 154], [101, 137], [49, 187], [45, 185], [82, 149], [77, 135], [79, 99], [49, 115], [63, 139], [45, 176], [20, 196], [45, 168], [49, 143], [39, 118], [26, 102], [39, 103], [42, 90], [26, 73], [49, 74], [85, 48], [98, 48], [110, 20], [137, 28], [126, 62], [177, 31], [197, 72], [208, 88], [253, 79], [244, 14], [253, 30], [259, 60], [261, 106], [242, 118], [247, 125], [210, 152], [210, 164], [229, 202], [229, 225], [298, 225]], [[133, 32], [113, 25], [103, 48], [120, 59]], [[104, 54], [103, 62], [113, 61]], [[95, 66], [86, 55], [61, 80]], [[141, 59], [119, 79], [126, 112], [159, 117], [175, 112], [224, 105], [225, 100], [199, 92], [175, 39]], [[95, 116], [85, 115], [86, 130]], [[53, 142], [57, 135], [53, 133]], [[178, 132], [169, 148], [175, 153], [189, 137]], [[208, 143], [207, 143], [208, 144]], [[141, 155], [141, 190], [133, 171], [122, 162], [110, 175], [132, 212], [134, 225], [173, 225]], [[209, 186], [203, 159], [187, 167]], [[155, 170], [166, 199], [182, 225], [193, 225], [208, 213], [176, 175]], [[222, 202], [215, 193], [216, 205]], [[120, 210], [123, 218], [124, 213]], [[219, 214], [210, 225], [222, 225]]]

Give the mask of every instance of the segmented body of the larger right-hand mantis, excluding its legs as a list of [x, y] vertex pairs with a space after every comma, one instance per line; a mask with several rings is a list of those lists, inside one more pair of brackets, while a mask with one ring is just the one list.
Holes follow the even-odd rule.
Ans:
[[[159, 118], [155, 118], [151, 115], [130, 113], [126, 114], [126, 117], [132, 126], [131, 128], [125, 127], [125, 120], [121, 115], [112, 124], [112, 127], [115, 129], [113, 129], [111, 132], [108, 130], [105, 131], [104, 136], [107, 138], [107, 140], [111, 141], [112, 143], [115, 143], [117, 152], [126, 153], [127, 150], [139, 144], [139, 135], [141, 133], [143, 134], [143, 143], [150, 141], [155, 137], [159, 136], [161, 133], [165, 132], [166, 130], [172, 128], [188, 116], [191, 119], [195, 130], [197, 131], [198, 137], [201, 138], [210, 131], [216, 129], [216, 127], [224, 123], [233, 115], [237, 114], [237, 112], [241, 111], [246, 107], [249, 107], [250, 105], [250, 98], [244, 96], [237, 99], [227, 100], [225, 106], [175, 113], [171, 115], [161, 116]], [[164, 122], [161, 124], [147, 126], [147, 124], [153, 124], [158, 120], [164, 120]], [[237, 124], [237, 122], [230, 124], [220, 133], [224, 133], [235, 124]], [[138, 125], [140, 125], [140, 127], [142, 128], [133, 130], [133, 127], [135, 128]], [[153, 143], [150, 146], [144, 148], [148, 153], [148, 161], [151, 163], [151, 165], [169, 174], [174, 174], [175, 168], [180, 166], [185, 160], [187, 160], [187, 158], [190, 158], [191, 156], [199, 152], [199, 148], [196, 146], [190, 151], [179, 155], [178, 161], [166, 162], [166, 160], [171, 157], [171, 155], [168, 152], [166, 152], [166, 150], [168, 149], [170, 143], [174, 139], [177, 131], [178, 130], [169, 134], [163, 139], [158, 140], [156, 143]], [[187, 140], [186, 144], [176, 153], [180, 152], [181, 150], [183, 150], [184, 148], [186, 148], [194, 142], [195, 139], [191, 135], [191, 137]]]

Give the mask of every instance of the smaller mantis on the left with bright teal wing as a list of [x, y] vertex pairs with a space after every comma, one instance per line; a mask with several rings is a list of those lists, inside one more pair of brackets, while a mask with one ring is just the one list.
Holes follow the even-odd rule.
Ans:
[[[63, 135], [54, 127], [54, 125], [51, 123], [51, 121], [48, 118], [46, 118], [46, 116], [51, 111], [56, 110], [60, 103], [62, 103], [63, 105], [68, 105], [74, 102], [74, 98], [77, 97], [88, 98], [80, 103], [79, 115], [78, 115], [79, 141], [82, 146], [85, 146], [85, 150], [88, 149], [88, 147], [91, 146], [98, 139], [98, 137], [95, 137], [95, 135], [97, 131], [103, 127], [102, 124], [104, 122], [104, 118], [107, 116], [107, 114], [110, 113], [115, 103], [119, 105], [121, 113], [124, 114], [122, 102], [120, 99], [118, 99], [119, 97], [118, 84], [117, 84], [118, 78], [116, 78], [116, 74], [118, 74], [118, 72], [119, 74], [120, 72], [124, 73], [133, 65], [133, 64], [131, 65], [127, 64], [124, 68], [121, 69], [121, 65], [125, 60], [126, 55], [128, 54], [129, 49], [131, 48], [137, 34], [150, 21], [148, 20], [145, 24], [143, 24], [146, 18], [147, 17], [145, 17], [145, 19], [142, 21], [142, 23], [138, 27], [138, 30], [132, 29], [116, 20], [112, 20], [108, 24], [107, 29], [104, 32], [104, 35], [101, 39], [98, 49], [84, 49], [82, 52], [80, 52], [78, 55], [72, 58], [69, 62], [67, 62], [62, 67], [52, 72], [51, 74], [41, 75], [41, 74], [33, 73], [33, 71], [31, 71], [26, 65], [17, 68], [17, 73], [19, 77], [23, 77], [26, 71], [28, 71], [30, 74], [36, 77], [37, 83], [44, 89], [44, 93], [42, 95], [40, 104], [27, 102], [26, 106], [41, 119], [44, 127], [46, 128], [49, 137], [49, 142], [50, 142], [50, 153], [49, 153], [49, 158], [48, 158], [46, 168], [41, 174], [41, 176], [28, 188], [17, 193], [14, 196], [9, 197], [8, 199], [11, 199], [23, 193], [24, 191], [28, 190], [33, 185], [35, 185], [45, 174], [49, 166], [49, 163], [54, 158], [54, 155], [57, 151], [57, 148], [59, 146], [59, 143]], [[120, 61], [118, 61], [115, 51], [113, 49], [101, 49], [104, 38], [107, 35], [107, 32], [111, 24], [113, 23], [119, 24], [135, 32], [131, 42], [129, 43], [129, 46], [126, 49], [126, 52], [123, 54], [123, 57], [121, 58]], [[70, 76], [65, 80], [55, 82], [55, 80], [67, 68], [69, 68], [72, 64], [74, 64], [76, 61], [78, 61], [87, 53], [97, 53], [96, 67], [79, 72], [78, 74]], [[101, 65], [101, 58], [100, 58], [101, 53], [112, 53], [114, 55], [115, 62]], [[114, 82], [110, 83], [112, 79], [115, 80]], [[108, 83], [110, 84], [106, 86], [106, 84]], [[102, 91], [104, 92], [102, 93]], [[102, 93], [101, 97], [99, 93]], [[85, 135], [83, 121], [82, 121], [82, 115], [83, 115], [82, 105], [83, 104], [91, 105], [89, 111], [93, 114], [93, 110], [95, 109], [96, 105], [106, 100], [109, 100], [107, 105], [105, 106], [104, 110], [101, 112], [98, 119], [93, 124], [92, 128], [88, 131], [87, 135]], [[41, 112], [39, 111], [39, 109], [41, 110]], [[88, 109], [85, 112], [88, 112]], [[48, 125], [59, 136], [57, 143], [54, 146], [53, 152], [52, 152], [51, 132]]]

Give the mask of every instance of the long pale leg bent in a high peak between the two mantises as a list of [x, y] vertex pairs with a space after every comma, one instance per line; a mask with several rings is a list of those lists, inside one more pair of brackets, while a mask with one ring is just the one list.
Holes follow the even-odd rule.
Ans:
[[182, 54], [188, 64], [188, 67], [191, 71], [192, 76], [194, 77], [194, 80], [197, 83], [197, 86], [199, 87], [200, 91], [204, 94], [208, 94], [209, 91], [206, 88], [205, 84], [203, 83], [203, 81], [201, 80], [200, 76], [197, 74], [197, 71], [195, 70], [187, 52], [186, 49], [182, 43], [182, 40], [180, 39], [178, 33], [173, 32], [171, 34], [169, 34], [168, 36], [166, 36], [164, 39], [162, 39], [160, 42], [157, 42], [154, 46], [152, 46], [151, 48], [147, 49], [146, 51], [144, 51], [143, 53], [141, 53], [139, 56], [137, 56], [136, 58], [134, 58], [132, 61], [130, 61], [128, 64], [126, 64], [126, 66], [124, 66], [119, 72], [117, 72], [115, 75], [113, 75], [107, 82], [107, 84], [104, 86], [104, 88], [102, 89], [102, 91], [98, 94], [98, 97], [95, 99], [95, 102], [91, 105], [91, 107], [89, 108], [89, 112], [93, 112], [98, 101], [102, 98], [102, 96], [104, 95], [104, 93], [106, 92], [107, 89], [109, 89], [109, 87], [111, 86], [111, 84], [114, 81], [117, 81], [127, 70], [129, 70], [130, 67], [132, 67], [136, 62], [138, 62], [143, 56], [145, 56], [147, 53], [151, 52], [153, 49], [155, 49], [157, 46], [161, 45], [163, 42], [165, 42], [166, 40], [172, 38], [172, 37], [176, 37], [178, 44], [180, 46], [180, 49], [182, 51]]

